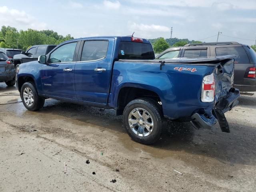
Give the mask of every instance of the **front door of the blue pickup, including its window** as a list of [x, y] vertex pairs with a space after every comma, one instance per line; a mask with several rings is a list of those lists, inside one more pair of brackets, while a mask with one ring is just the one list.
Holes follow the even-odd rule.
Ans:
[[78, 46], [78, 42], [70, 42], [58, 47], [48, 57], [47, 65], [42, 65], [40, 75], [44, 94], [76, 99], [74, 69]]

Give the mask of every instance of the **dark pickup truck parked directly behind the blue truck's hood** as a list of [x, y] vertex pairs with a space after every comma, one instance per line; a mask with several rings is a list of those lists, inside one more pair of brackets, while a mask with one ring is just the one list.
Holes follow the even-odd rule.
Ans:
[[30, 47], [26, 52], [14, 56], [14, 67], [17, 68], [22, 63], [38, 60], [40, 55], [46, 55], [53, 50], [57, 45], [34, 45]]

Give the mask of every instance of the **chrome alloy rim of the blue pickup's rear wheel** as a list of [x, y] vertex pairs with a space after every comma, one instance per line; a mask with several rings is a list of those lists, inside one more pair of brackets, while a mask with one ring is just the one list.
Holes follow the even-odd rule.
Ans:
[[128, 122], [132, 132], [141, 137], [149, 136], [154, 128], [152, 116], [143, 108], [133, 109], [129, 114]]

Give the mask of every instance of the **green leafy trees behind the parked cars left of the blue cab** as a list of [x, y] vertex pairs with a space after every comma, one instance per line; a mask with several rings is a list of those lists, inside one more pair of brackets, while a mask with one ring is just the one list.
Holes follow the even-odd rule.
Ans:
[[14, 27], [2, 26], [0, 31], [0, 42], [5, 44], [0, 44], [1, 46], [6, 46], [7, 48], [18, 48], [26, 50], [28, 47], [33, 45], [57, 45], [66, 40], [74, 39], [70, 34], [63, 37], [53, 30], [20, 30], [18, 31]]

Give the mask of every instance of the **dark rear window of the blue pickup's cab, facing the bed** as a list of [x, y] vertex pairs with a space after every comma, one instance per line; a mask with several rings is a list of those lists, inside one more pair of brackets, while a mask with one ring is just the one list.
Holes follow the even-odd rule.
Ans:
[[154, 59], [155, 54], [151, 44], [121, 41], [118, 59]]

